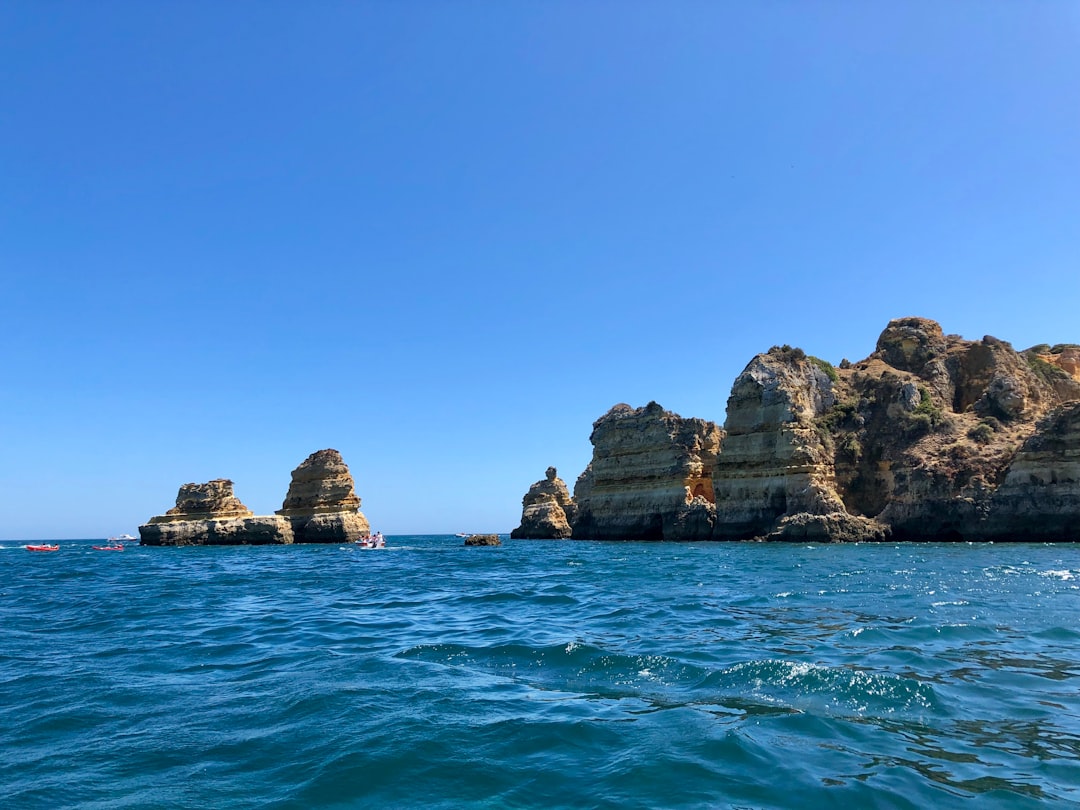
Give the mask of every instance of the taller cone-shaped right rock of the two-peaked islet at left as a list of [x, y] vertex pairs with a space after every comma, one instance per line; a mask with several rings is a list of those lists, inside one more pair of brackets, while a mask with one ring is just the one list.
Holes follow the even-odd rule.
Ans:
[[312, 453], [293, 470], [276, 514], [289, 519], [298, 543], [351, 543], [372, 531], [349, 468], [334, 449]]

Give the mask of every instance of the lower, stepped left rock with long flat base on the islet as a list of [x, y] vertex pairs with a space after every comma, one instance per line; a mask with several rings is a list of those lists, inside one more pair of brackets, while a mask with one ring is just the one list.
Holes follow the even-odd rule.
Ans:
[[238, 545], [292, 543], [283, 517], [257, 517], [232, 494], [232, 482], [185, 484], [176, 505], [138, 527], [143, 545]]

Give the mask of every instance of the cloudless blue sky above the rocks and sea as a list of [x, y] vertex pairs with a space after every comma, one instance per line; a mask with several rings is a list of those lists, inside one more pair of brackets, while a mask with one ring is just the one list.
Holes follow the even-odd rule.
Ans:
[[775, 343], [1080, 341], [1075, 2], [0, 5], [0, 538], [509, 531]]

